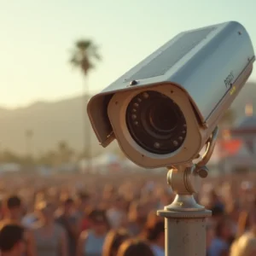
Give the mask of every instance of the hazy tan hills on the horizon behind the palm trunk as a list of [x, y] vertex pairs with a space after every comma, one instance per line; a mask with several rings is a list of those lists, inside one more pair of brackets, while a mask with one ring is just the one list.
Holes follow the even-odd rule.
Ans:
[[[256, 83], [247, 83], [233, 103], [237, 119], [244, 116], [244, 106], [252, 102], [256, 111]], [[0, 150], [9, 148], [17, 153], [26, 152], [25, 131], [32, 130], [35, 153], [54, 148], [61, 140], [80, 151], [83, 147], [83, 97], [65, 99], [59, 102], [35, 102], [26, 108], [0, 108]], [[87, 127], [90, 127], [86, 115]], [[90, 128], [92, 151], [103, 148]], [[113, 143], [111, 148], [115, 148]], [[109, 148], [110, 149], [110, 148]]]

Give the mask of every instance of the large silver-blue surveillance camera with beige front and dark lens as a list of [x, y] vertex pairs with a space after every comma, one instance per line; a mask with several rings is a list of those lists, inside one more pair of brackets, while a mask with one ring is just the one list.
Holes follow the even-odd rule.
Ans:
[[88, 103], [103, 147], [117, 139], [138, 166], [196, 158], [253, 70], [246, 29], [230, 21], [182, 32]]

